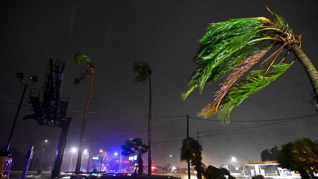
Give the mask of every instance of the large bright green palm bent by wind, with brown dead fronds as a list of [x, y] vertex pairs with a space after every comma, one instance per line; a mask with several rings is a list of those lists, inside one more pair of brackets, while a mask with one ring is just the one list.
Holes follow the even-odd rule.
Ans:
[[[194, 57], [195, 70], [188, 83], [189, 90], [182, 97], [185, 99], [196, 88], [202, 92], [207, 82], [217, 82], [223, 76], [227, 77], [216, 92], [214, 102], [202, 110], [201, 116], [206, 118], [217, 113], [221, 121], [227, 124], [234, 107], [276, 80], [293, 64], [294, 61], [283, 64], [290, 52], [305, 68], [318, 101], [318, 72], [300, 48], [301, 34], [295, 35], [282, 17], [268, 10], [274, 21], [264, 17], [230, 19], [211, 23], [207, 27]], [[262, 63], [268, 64], [266, 68], [251, 71], [245, 80], [232, 87], [270, 49], [274, 50]], [[284, 50], [284, 57], [278, 61]]]

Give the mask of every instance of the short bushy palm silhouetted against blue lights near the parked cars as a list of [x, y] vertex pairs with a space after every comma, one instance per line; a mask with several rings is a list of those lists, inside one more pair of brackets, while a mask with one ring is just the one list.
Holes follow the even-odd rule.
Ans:
[[137, 163], [138, 163], [138, 175], [141, 175], [143, 172], [143, 160], [142, 156], [148, 151], [149, 146], [141, 141], [141, 138], [135, 138], [126, 140], [125, 144], [121, 146], [122, 155], [129, 156], [132, 154], [137, 155]]

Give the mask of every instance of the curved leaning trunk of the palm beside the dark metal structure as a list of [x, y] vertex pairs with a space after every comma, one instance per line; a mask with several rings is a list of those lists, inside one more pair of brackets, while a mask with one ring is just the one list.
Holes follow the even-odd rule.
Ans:
[[85, 131], [86, 131], [86, 121], [87, 121], [87, 116], [88, 116], [88, 112], [90, 110], [90, 105], [91, 105], [93, 84], [94, 84], [94, 68], [91, 68], [90, 91], [89, 91], [89, 97], [87, 98], [86, 109], [84, 112], [84, 118], [83, 118], [83, 123], [82, 123], [82, 130], [81, 130], [81, 136], [80, 136], [80, 142], [79, 142], [79, 148], [78, 148], [78, 154], [77, 154], [77, 161], [76, 161], [76, 168], [75, 168], [76, 174], [79, 174], [80, 170], [81, 170], [82, 152], [83, 152], [84, 137], [85, 137]]

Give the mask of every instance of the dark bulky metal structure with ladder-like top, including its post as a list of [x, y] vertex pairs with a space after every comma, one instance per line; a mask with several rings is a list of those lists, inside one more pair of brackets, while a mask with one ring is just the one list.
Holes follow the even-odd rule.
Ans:
[[26, 115], [23, 119], [35, 119], [41, 126], [59, 127], [62, 129], [56, 152], [52, 178], [61, 173], [62, 160], [65, 152], [68, 127], [71, 117], [66, 115], [68, 110], [69, 95], [62, 93], [65, 63], [49, 59], [45, 80], [42, 86], [43, 101], [40, 102], [40, 89], [31, 89], [30, 101], [33, 114]]

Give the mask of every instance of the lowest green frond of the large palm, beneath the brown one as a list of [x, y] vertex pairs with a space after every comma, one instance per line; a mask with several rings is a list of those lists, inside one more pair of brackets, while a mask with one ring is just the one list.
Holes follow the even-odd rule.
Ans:
[[[293, 63], [292, 63], [293, 64]], [[228, 90], [227, 95], [220, 103], [218, 117], [224, 124], [229, 122], [229, 115], [233, 108], [241, 104], [250, 94], [253, 94], [275, 81], [283, 74], [292, 64], [276, 64], [271, 67], [267, 75], [264, 76], [266, 69], [254, 70], [250, 72], [247, 79], [239, 85]], [[207, 105], [200, 115], [207, 117], [213, 114], [213, 109]]]

